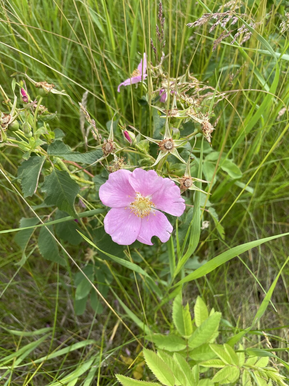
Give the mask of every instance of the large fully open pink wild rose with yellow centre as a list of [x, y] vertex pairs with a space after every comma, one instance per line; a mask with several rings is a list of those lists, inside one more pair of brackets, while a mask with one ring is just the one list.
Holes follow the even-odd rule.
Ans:
[[99, 189], [99, 198], [111, 207], [104, 218], [104, 230], [120, 245], [135, 240], [153, 245], [153, 236], [168, 241], [173, 227], [161, 211], [180, 216], [185, 210], [180, 188], [171, 179], [140, 168], [109, 174]]

